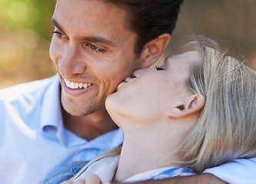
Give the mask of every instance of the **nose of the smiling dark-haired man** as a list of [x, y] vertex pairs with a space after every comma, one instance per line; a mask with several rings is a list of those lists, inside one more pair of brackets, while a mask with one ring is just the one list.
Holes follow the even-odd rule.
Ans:
[[67, 45], [64, 49], [62, 58], [58, 61], [58, 71], [63, 77], [85, 72], [86, 66], [83, 61], [81, 51], [74, 45]]

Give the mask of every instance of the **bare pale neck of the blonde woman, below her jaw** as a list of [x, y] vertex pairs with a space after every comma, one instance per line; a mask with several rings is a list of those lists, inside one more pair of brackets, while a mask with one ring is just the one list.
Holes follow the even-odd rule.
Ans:
[[178, 148], [177, 139], [162, 134], [155, 129], [141, 128], [124, 131], [125, 140], [121, 149], [118, 169], [114, 181], [120, 182], [141, 172], [167, 166], [182, 166], [181, 155], [175, 152]]

